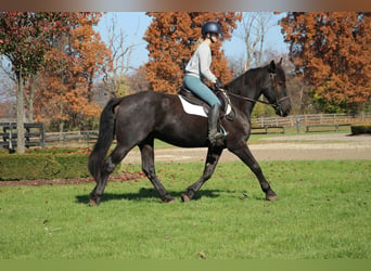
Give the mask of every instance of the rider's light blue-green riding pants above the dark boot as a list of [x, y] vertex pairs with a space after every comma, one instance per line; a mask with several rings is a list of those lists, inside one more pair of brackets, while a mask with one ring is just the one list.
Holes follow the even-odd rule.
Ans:
[[209, 106], [213, 107], [215, 104], [220, 105], [216, 94], [214, 94], [214, 92], [204, 85], [200, 78], [192, 75], [186, 75], [183, 78], [183, 86], [192, 91], [196, 96], [205, 101]]

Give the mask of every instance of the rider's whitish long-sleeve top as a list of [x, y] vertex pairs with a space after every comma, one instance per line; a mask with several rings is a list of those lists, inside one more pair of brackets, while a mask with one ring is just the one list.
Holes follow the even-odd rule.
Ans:
[[196, 51], [193, 53], [190, 62], [186, 66], [186, 73], [199, 77], [200, 79], [206, 78], [212, 83], [217, 81], [217, 78], [210, 70], [212, 65], [212, 50], [204, 41]]

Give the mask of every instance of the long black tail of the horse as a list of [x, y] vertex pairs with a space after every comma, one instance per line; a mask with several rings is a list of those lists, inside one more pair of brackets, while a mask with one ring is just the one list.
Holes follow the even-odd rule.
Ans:
[[114, 108], [121, 100], [118, 98], [111, 99], [101, 114], [98, 141], [89, 156], [89, 171], [95, 181], [101, 177], [105, 155], [115, 137]]

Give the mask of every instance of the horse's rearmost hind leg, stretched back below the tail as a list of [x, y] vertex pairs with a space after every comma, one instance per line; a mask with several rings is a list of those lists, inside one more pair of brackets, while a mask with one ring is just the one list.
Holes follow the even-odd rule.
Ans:
[[100, 204], [110, 175], [115, 170], [116, 166], [124, 159], [129, 151], [130, 149], [117, 144], [114, 151], [105, 159], [101, 178], [97, 181], [95, 188], [90, 193], [90, 205], [94, 206]]

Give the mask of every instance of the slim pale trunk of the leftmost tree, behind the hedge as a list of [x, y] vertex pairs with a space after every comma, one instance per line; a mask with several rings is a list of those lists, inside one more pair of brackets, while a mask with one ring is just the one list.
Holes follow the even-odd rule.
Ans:
[[23, 89], [22, 73], [17, 76], [17, 89], [16, 89], [16, 152], [20, 154], [25, 153], [25, 96]]

